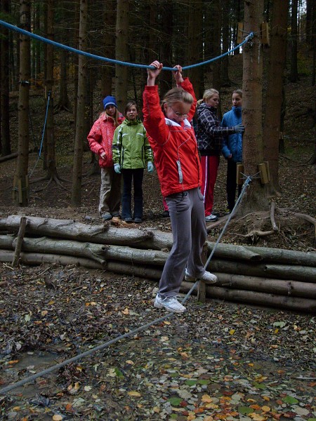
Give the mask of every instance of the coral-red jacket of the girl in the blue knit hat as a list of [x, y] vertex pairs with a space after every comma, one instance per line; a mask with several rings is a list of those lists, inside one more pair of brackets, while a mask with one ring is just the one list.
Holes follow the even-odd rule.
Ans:
[[[118, 123], [121, 124], [125, 120], [123, 114], [119, 113]], [[107, 156], [105, 159], [99, 158], [99, 165], [101, 168], [112, 167], [112, 141], [114, 131], [117, 126], [114, 126], [112, 117], [107, 116], [105, 112], [100, 114], [98, 120], [93, 123], [90, 133], [88, 134], [89, 147], [95, 154], [102, 154], [105, 152]]]

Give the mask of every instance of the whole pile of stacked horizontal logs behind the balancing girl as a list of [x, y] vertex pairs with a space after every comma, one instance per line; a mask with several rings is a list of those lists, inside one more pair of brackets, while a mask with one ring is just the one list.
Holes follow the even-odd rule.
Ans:
[[[1, 262], [18, 256], [25, 265], [75, 264], [157, 282], [172, 245], [171, 233], [157, 229], [26, 219], [0, 218]], [[214, 243], [206, 246], [209, 255]], [[207, 269], [218, 276], [204, 286], [207, 298], [316, 313], [316, 253], [221, 243]], [[191, 286], [183, 282], [182, 291]]]

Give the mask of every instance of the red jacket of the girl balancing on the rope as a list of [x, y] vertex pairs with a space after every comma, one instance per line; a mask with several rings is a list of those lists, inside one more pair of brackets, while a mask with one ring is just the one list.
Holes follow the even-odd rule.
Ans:
[[181, 86], [194, 99], [189, 115], [181, 125], [164, 116], [157, 85], [145, 86], [143, 92], [143, 123], [154, 152], [154, 165], [164, 197], [202, 184], [197, 140], [189, 122], [195, 114], [197, 99], [189, 79], [185, 78]]

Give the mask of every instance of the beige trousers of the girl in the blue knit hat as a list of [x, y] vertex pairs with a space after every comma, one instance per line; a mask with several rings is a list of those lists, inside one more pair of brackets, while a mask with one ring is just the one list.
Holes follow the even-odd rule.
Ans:
[[121, 174], [117, 174], [113, 167], [101, 168], [100, 187], [100, 216], [105, 213], [119, 214], [121, 204]]

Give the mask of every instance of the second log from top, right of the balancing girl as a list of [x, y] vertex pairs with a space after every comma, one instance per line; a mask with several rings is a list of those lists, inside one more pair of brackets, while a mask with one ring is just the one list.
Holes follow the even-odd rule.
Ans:
[[210, 272], [224, 272], [245, 276], [260, 276], [273, 279], [293, 279], [294, 281], [316, 283], [316, 268], [309, 266], [246, 264], [228, 260], [212, 259], [207, 269]]

